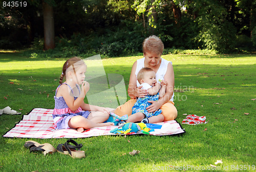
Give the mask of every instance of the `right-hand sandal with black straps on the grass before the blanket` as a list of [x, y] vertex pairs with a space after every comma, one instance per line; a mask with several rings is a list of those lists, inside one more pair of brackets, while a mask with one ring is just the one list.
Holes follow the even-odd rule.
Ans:
[[[74, 145], [69, 143], [73, 143]], [[78, 144], [75, 140], [68, 139], [66, 143], [57, 146], [57, 151], [61, 154], [70, 155], [72, 158], [84, 158], [86, 155], [84, 151], [81, 151], [81, 148], [82, 144]]]

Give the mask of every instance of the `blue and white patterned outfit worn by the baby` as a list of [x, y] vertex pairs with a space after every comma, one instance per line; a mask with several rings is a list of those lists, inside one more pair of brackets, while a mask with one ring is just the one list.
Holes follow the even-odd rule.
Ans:
[[[141, 85], [142, 85], [141, 89], [148, 89], [148, 88], [152, 87], [147, 83], [143, 83]], [[142, 112], [143, 114], [146, 115], [147, 118], [149, 118], [151, 116], [159, 115], [160, 113], [162, 113], [162, 110], [160, 110], [160, 109], [158, 109], [154, 113], [152, 113], [152, 112], [148, 113], [146, 110], [146, 108], [152, 104], [152, 103], [148, 103], [147, 101], [158, 101], [158, 99], [159, 99], [159, 92], [155, 95], [147, 94], [143, 98], [138, 97], [136, 103], [134, 104], [134, 106], [132, 108], [132, 114], [137, 113], [137, 112]]]

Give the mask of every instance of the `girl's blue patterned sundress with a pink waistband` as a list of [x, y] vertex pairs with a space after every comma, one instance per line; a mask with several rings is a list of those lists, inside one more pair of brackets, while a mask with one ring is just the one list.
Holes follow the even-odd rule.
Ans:
[[[62, 84], [66, 84], [68, 85], [67, 83], [62, 83]], [[77, 116], [77, 115], [81, 115], [85, 118], [88, 118], [90, 112], [89, 111], [83, 111], [81, 107], [79, 107], [75, 112], [72, 111], [67, 103], [65, 102], [64, 98], [62, 96], [60, 97], [56, 97], [56, 94], [57, 94], [57, 91], [59, 89], [59, 87], [62, 85], [60, 84], [57, 89], [56, 89], [56, 92], [55, 92], [55, 96], [54, 96], [54, 100], [55, 100], [55, 107], [54, 107], [54, 110], [53, 110], [53, 114], [52, 114], [52, 117], [53, 117], [53, 121], [54, 121], [54, 128], [55, 129], [71, 129], [69, 127], [69, 120], [73, 117], [73, 116]], [[69, 86], [69, 85], [68, 85]], [[78, 91], [79, 91], [79, 94], [80, 94], [80, 88], [78, 85], [76, 85]], [[72, 88], [69, 86], [69, 88], [71, 89], [72, 93], [73, 93], [73, 90]], [[77, 97], [74, 96], [74, 99], [76, 100]]]

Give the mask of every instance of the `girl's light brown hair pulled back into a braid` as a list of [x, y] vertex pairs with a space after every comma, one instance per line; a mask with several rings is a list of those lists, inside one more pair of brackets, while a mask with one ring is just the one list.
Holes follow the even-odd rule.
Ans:
[[66, 77], [66, 73], [69, 71], [74, 71], [76, 73], [76, 69], [80, 67], [81, 65], [84, 65], [84, 61], [79, 57], [72, 57], [69, 60], [67, 60], [62, 67], [62, 73], [59, 78], [59, 83], [62, 84], [62, 80], [64, 77]]

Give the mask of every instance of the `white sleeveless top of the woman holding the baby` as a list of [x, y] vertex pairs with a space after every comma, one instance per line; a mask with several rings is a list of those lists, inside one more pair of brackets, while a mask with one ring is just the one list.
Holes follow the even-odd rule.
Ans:
[[[157, 82], [159, 82], [159, 79], [163, 80], [163, 78], [165, 76], [165, 73], [167, 71], [168, 63], [173, 64], [171, 61], [165, 60], [163, 58], [161, 58], [161, 59], [162, 59], [161, 64], [160, 64], [160, 66], [157, 70], [157, 73], [156, 73]], [[142, 69], [144, 67], [144, 61], [145, 61], [145, 57], [143, 57], [142, 59], [137, 60], [137, 68], [136, 68], [136, 71], [135, 71], [136, 78], [137, 78], [137, 75], [138, 75], [138, 72], [140, 71], [140, 69]], [[139, 86], [140, 86], [140, 83], [137, 80], [137, 87], [139, 87]], [[170, 101], [174, 101], [174, 93], [173, 93], [173, 96], [170, 99]]]

